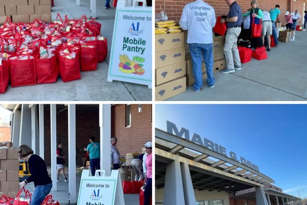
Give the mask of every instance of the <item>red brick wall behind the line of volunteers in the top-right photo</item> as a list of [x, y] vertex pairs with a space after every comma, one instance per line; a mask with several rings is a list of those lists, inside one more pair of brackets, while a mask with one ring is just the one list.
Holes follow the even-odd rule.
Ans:
[[[300, 10], [302, 10], [303, 8], [302, 2], [304, 1], [307, 0], [297, 0], [297, 2], [295, 2], [295, 4], [297, 4], [297, 7], [299, 7]], [[193, 0], [158, 0], [156, 1], [156, 13], [165, 10], [169, 19], [180, 20], [184, 6], [191, 2], [193, 2]], [[205, 2], [214, 8], [216, 17], [228, 14], [229, 7], [226, 4], [225, 0], [205, 0]], [[280, 17], [283, 19], [286, 11], [290, 10], [291, 0], [258, 0], [257, 2], [259, 8], [265, 11], [269, 11], [271, 8], [275, 8], [275, 5], [278, 4], [280, 6], [281, 12]], [[247, 12], [247, 10], [251, 7], [250, 0], [237, 0], [237, 3], [238, 5], [240, 5], [243, 13]]]

